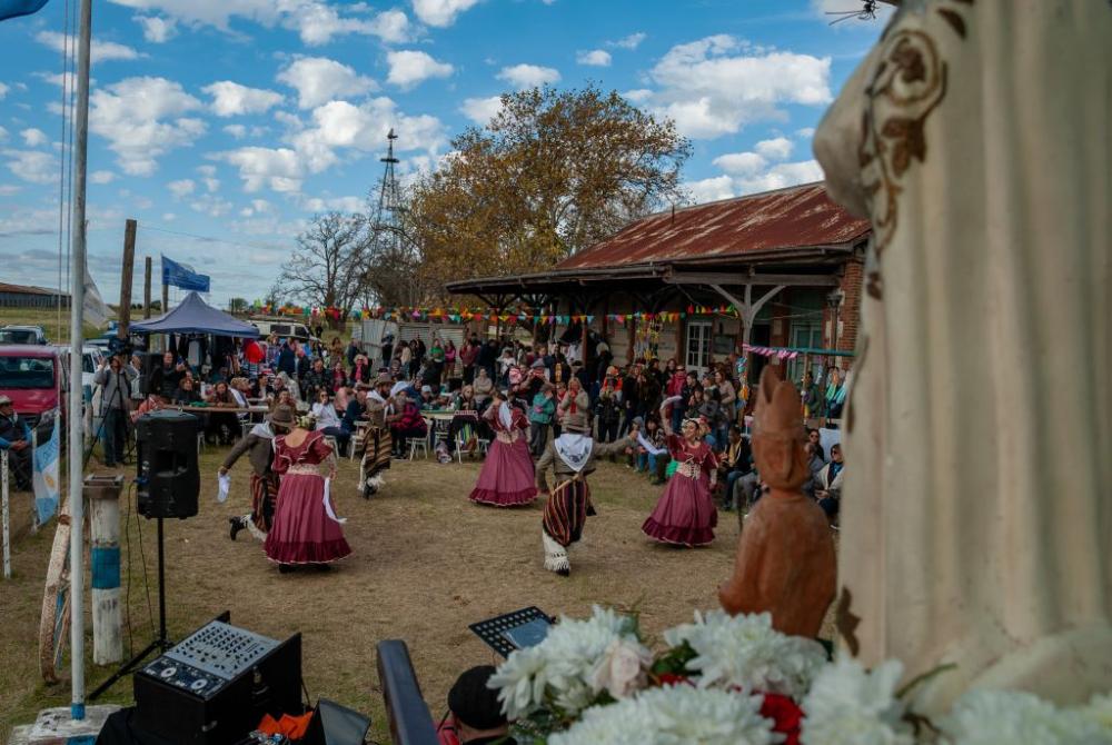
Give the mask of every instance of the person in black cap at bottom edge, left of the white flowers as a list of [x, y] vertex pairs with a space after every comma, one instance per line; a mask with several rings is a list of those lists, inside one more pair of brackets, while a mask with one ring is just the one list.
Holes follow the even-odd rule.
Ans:
[[448, 692], [448, 713], [436, 732], [441, 745], [516, 745], [498, 692], [487, 687], [494, 672], [493, 665], [479, 665], [456, 678]]

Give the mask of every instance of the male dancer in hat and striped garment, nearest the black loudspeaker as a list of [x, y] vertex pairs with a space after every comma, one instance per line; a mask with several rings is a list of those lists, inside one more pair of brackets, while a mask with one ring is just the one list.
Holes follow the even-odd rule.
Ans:
[[232, 540], [244, 528], [259, 540], [266, 539], [275, 515], [275, 500], [278, 498], [278, 474], [270, 468], [275, 458], [274, 440], [275, 437], [287, 434], [294, 425], [294, 409], [279, 404], [266, 421], [255, 425], [247, 437], [236, 443], [220, 466], [220, 475], [224, 476], [245, 453], [251, 461], [251, 511], [228, 518]]

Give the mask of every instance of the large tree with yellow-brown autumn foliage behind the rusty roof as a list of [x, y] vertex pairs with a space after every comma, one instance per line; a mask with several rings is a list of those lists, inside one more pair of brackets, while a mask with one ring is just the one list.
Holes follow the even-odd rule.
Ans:
[[550, 268], [683, 198], [691, 143], [617, 92], [534, 88], [502, 105], [413, 190], [406, 230], [426, 286]]

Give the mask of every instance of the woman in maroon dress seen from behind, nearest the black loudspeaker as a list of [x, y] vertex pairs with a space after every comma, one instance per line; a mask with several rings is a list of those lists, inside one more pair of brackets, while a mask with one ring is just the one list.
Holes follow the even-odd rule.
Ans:
[[275, 438], [274, 470], [281, 477], [274, 525], [264, 549], [267, 558], [288, 572], [297, 564], [325, 565], [351, 553], [344, 528], [325, 497], [320, 464], [336, 476], [336, 456], [319, 431], [298, 423], [290, 434]]

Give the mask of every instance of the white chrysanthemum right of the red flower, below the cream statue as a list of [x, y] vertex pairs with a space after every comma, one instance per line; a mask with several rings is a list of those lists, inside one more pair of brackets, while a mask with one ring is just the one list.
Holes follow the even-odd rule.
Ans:
[[803, 699], [803, 745], [911, 745], [911, 727], [894, 692], [903, 664], [890, 659], [871, 673], [854, 660], [826, 665]]

